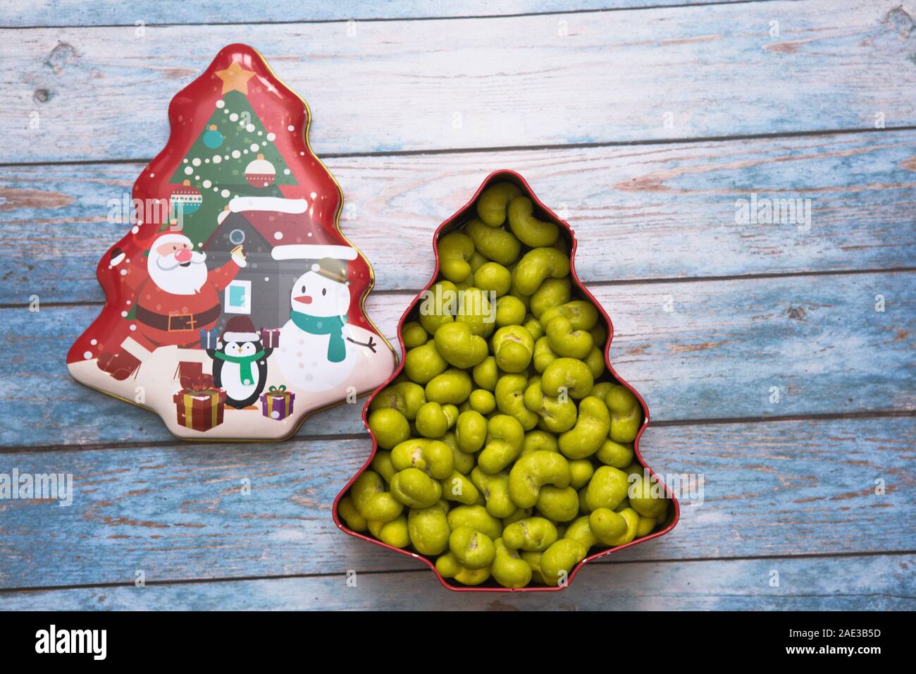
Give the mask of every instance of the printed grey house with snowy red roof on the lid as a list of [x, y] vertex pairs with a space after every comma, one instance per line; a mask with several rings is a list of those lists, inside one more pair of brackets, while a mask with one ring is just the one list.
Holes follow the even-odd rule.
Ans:
[[355, 260], [356, 249], [311, 219], [307, 199], [240, 196], [219, 216], [219, 226], [203, 244], [210, 269], [245, 247], [247, 266], [224, 290], [222, 333], [233, 315], [249, 315], [257, 328], [279, 327], [289, 319], [292, 284], [322, 258]]

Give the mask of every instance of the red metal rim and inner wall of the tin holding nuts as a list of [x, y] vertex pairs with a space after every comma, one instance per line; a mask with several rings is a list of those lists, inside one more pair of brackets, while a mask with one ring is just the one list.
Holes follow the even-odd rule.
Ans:
[[[573, 228], [570, 227], [569, 224], [568, 224], [567, 222], [563, 221], [560, 217], [558, 217], [556, 214], [554, 214], [554, 213], [551, 211], [551, 209], [549, 209], [546, 205], [542, 204], [542, 203], [540, 202], [540, 199], [538, 199], [538, 197], [535, 195], [535, 193], [533, 193], [533, 192], [531, 191], [531, 188], [530, 188], [528, 182], [526, 182], [525, 179], [522, 178], [522, 176], [521, 176], [519, 173], [517, 173], [516, 171], [502, 170], [502, 171], [494, 171], [494, 172], [490, 173], [490, 175], [488, 175], [488, 176], [486, 177], [485, 181], [480, 185], [480, 187], [477, 188], [477, 191], [474, 193], [474, 196], [471, 197], [471, 200], [470, 200], [467, 204], [464, 204], [464, 205], [463, 205], [454, 215], [452, 215], [452, 216], [449, 217], [447, 220], [445, 220], [445, 222], [443, 222], [442, 225], [440, 225], [440, 226], [436, 229], [436, 233], [435, 233], [435, 235], [433, 236], [433, 251], [434, 251], [435, 256], [436, 256], [436, 258], [435, 258], [435, 259], [436, 259], [436, 267], [435, 267], [435, 270], [433, 270], [433, 272], [432, 272], [432, 278], [430, 279], [430, 282], [428, 282], [428, 283], [426, 284], [426, 287], [423, 288], [423, 290], [413, 299], [413, 301], [409, 304], [407, 310], [404, 312], [403, 315], [401, 315], [400, 320], [398, 320], [398, 340], [400, 341], [401, 351], [402, 351], [402, 352], [405, 352], [405, 351], [406, 351], [406, 349], [405, 349], [405, 347], [404, 347], [404, 336], [403, 336], [402, 333], [401, 333], [401, 331], [402, 331], [402, 329], [403, 329], [403, 327], [404, 327], [404, 324], [407, 323], [410, 319], [413, 319], [413, 318], [414, 318], [414, 313], [415, 313], [415, 311], [417, 310], [418, 304], [420, 304], [420, 301], [422, 300], [422, 297], [423, 297], [424, 293], [426, 293], [426, 292], [430, 289], [431, 285], [432, 285], [434, 282], [436, 282], [436, 280], [439, 278], [439, 247], [438, 247], [439, 240], [440, 240], [443, 236], [445, 236], [446, 234], [448, 234], [449, 232], [453, 231], [454, 229], [457, 229], [457, 228], [459, 228], [459, 227], [462, 227], [464, 224], [466, 224], [467, 222], [469, 222], [469, 221], [476, 215], [475, 204], [476, 204], [477, 198], [480, 196], [481, 193], [484, 192], [484, 190], [485, 190], [487, 187], [489, 187], [490, 185], [494, 184], [495, 182], [514, 182], [515, 184], [517, 184], [518, 187], [521, 189], [522, 193], [523, 193], [524, 195], [528, 196], [529, 199], [531, 199], [531, 201], [534, 203], [536, 214], [537, 214], [538, 211], [540, 211], [540, 215], [538, 215], [540, 218], [551, 220], [552, 222], [556, 223], [557, 225], [559, 225], [559, 226], [561, 227], [562, 236], [566, 239], [566, 242], [567, 242], [567, 244], [569, 245], [569, 250], [570, 250], [570, 277], [571, 277], [571, 279], [573, 280], [573, 288], [574, 288], [574, 291], [576, 291], [576, 292], [578, 293], [578, 295], [579, 295], [579, 297], [580, 297], [581, 299], [587, 299], [587, 300], [589, 300], [590, 302], [592, 302], [592, 304], [594, 304], [594, 306], [598, 309], [599, 315], [605, 320], [605, 323], [606, 323], [606, 325], [607, 325], [607, 342], [606, 342], [606, 345], [605, 345], [605, 368], [607, 369], [608, 373], [609, 373], [618, 383], [623, 384], [624, 386], [627, 387], [627, 389], [629, 389], [631, 392], [633, 392], [633, 394], [636, 396], [636, 398], [637, 398], [639, 404], [640, 404], [641, 407], [642, 407], [642, 412], [643, 412], [643, 423], [642, 423], [642, 425], [639, 427], [639, 430], [638, 430], [638, 433], [637, 433], [636, 438], [633, 440], [633, 453], [634, 453], [634, 458], [635, 458], [635, 460], [637, 460], [637, 461], [639, 462], [639, 464], [640, 464], [641, 466], [643, 466], [644, 468], [646, 468], [647, 470], [649, 470], [649, 474], [651, 474], [651, 475], [653, 475], [653, 476], [656, 475], [655, 471], [652, 470], [652, 469], [647, 465], [647, 463], [642, 459], [642, 456], [641, 456], [640, 453], [639, 453], [639, 438], [642, 436], [643, 432], [646, 430], [647, 426], [649, 425], [649, 407], [646, 405], [646, 401], [644, 401], [644, 400], [642, 399], [642, 396], [640, 396], [639, 393], [638, 393], [632, 386], [630, 386], [629, 384], [627, 384], [626, 381], [623, 381], [623, 379], [621, 379], [621, 378], [616, 374], [616, 372], [615, 372], [615, 370], [614, 370], [614, 367], [611, 365], [611, 361], [610, 361], [609, 354], [610, 354], [610, 348], [611, 348], [611, 340], [614, 338], [614, 325], [613, 325], [613, 323], [611, 322], [610, 316], [607, 315], [607, 312], [605, 311], [604, 307], [602, 307], [601, 304], [599, 304], [599, 303], [597, 302], [597, 300], [594, 299], [594, 296], [592, 295], [592, 293], [589, 293], [589, 292], [588, 292], [588, 289], [585, 288], [585, 286], [583, 285], [583, 283], [579, 280], [578, 275], [576, 274], [576, 271], [575, 271], [575, 251], [576, 251], [576, 247], [577, 247], [577, 242], [576, 242], [575, 234], [574, 234], [574, 232], [573, 232]], [[575, 293], [573, 293], [573, 294], [575, 294]], [[401, 359], [399, 359], [399, 364], [398, 364], [397, 370], [395, 370], [395, 372], [391, 375], [391, 377], [389, 377], [388, 380], [387, 380], [385, 383], [383, 383], [381, 386], [379, 386], [374, 392], [372, 392], [372, 393], [369, 395], [368, 399], [367, 399], [366, 402], [365, 402], [365, 406], [363, 407], [363, 424], [365, 425], [366, 429], [369, 429], [369, 423], [368, 423], [369, 406], [370, 406], [370, 405], [372, 404], [372, 402], [376, 399], [376, 396], [379, 394], [379, 392], [382, 392], [382, 391], [388, 386], [388, 384], [390, 384], [392, 381], [394, 381], [395, 379], [398, 378], [398, 375], [400, 375], [401, 370], [403, 370], [403, 369], [404, 369], [404, 359], [401, 358]], [[371, 431], [371, 430], [369, 430], [369, 435], [372, 436], [372, 431]], [[338, 504], [340, 503], [341, 499], [344, 498], [344, 496], [346, 495], [346, 493], [349, 492], [350, 487], [351, 487], [351, 485], [354, 483], [354, 481], [356, 481], [356, 479], [357, 479], [366, 469], [368, 469], [368, 468], [370, 467], [370, 465], [371, 465], [371, 463], [372, 463], [372, 459], [374, 459], [375, 456], [376, 456], [376, 451], [378, 451], [378, 445], [377, 445], [377, 443], [376, 443], [376, 438], [375, 438], [375, 436], [373, 436], [373, 439], [372, 439], [372, 453], [369, 455], [368, 459], [366, 459], [365, 464], [363, 465], [363, 467], [362, 467], [360, 470], [358, 470], [358, 471], [356, 472], [356, 474], [353, 476], [353, 478], [350, 479], [350, 481], [348, 481], [348, 482], [346, 483], [346, 485], [344, 486], [344, 489], [342, 489], [341, 492], [338, 493], [338, 494], [337, 494], [337, 497], [334, 499], [334, 503], [333, 503], [333, 518], [334, 518], [334, 524], [337, 525], [338, 528], [340, 528], [342, 531], [346, 532], [347, 534], [349, 534], [349, 535], [351, 535], [351, 536], [356, 536], [357, 538], [362, 538], [362, 539], [364, 539], [364, 540], [366, 540], [366, 541], [369, 541], [370, 543], [376, 544], [377, 546], [387, 547], [388, 549], [394, 550], [395, 552], [398, 552], [398, 553], [400, 553], [400, 554], [402, 554], [402, 555], [407, 555], [407, 556], [409, 556], [409, 557], [417, 558], [417, 559], [422, 560], [427, 566], [429, 566], [429, 567], [432, 569], [432, 572], [436, 574], [436, 578], [439, 579], [439, 581], [442, 583], [442, 585], [444, 585], [444, 586], [445, 586], [446, 588], [448, 588], [449, 590], [453, 590], [453, 591], [478, 591], [478, 592], [510, 592], [510, 591], [511, 591], [511, 592], [521, 592], [521, 591], [557, 591], [557, 590], [562, 590], [564, 587], [568, 586], [568, 585], [573, 581], [573, 578], [575, 577], [576, 573], [578, 573], [579, 570], [582, 569], [583, 566], [584, 566], [587, 562], [594, 561], [595, 559], [598, 559], [598, 558], [603, 558], [603, 557], [605, 557], [605, 556], [607, 556], [607, 555], [610, 555], [611, 553], [617, 552], [618, 550], [622, 550], [622, 549], [627, 548], [627, 547], [637, 546], [637, 545], [639, 545], [640, 543], [644, 543], [644, 542], [646, 542], [646, 541], [651, 540], [652, 538], [658, 538], [659, 536], [664, 536], [665, 534], [667, 534], [668, 532], [670, 532], [671, 529], [673, 529], [675, 525], [677, 525], [678, 520], [679, 520], [680, 517], [681, 517], [681, 505], [680, 505], [680, 503], [678, 503], [677, 498], [675, 498], [674, 493], [671, 492], [671, 489], [668, 487], [668, 485], [664, 485], [665, 493], [667, 494], [669, 500], [671, 501], [671, 507], [669, 508], [669, 511], [668, 511], [668, 520], [665, 522], [665, 524], [662, 525], [662, 527], [661, 527], [658, 531], [653, 531], [651, 534], [649, 534], [649, 535], [647, 535], [647, 536], [642, 536], [642, 537], [639, 537], [639, 538], [635, 538], [635, 539], [632, 540], [631, 542], [629, 542], [629, 543], [627, 543], [627, 544], [625, 544], [625, 545], [622, 545], [622, 546], [610, 547], [610, 548], [605, 549], [605, 550], [600, 550], [600, 551], [594, 553], [593, 555], [590, 555], [590, 556], [584, 558], [584, 559], [583, 559], [581, 562], [579, 562], [579, 564], [577, 564], [577, 565], [573, 568], [573, 570], [570, 572], [569, 580], [568, 580], [568, 582], [566, 583], [566, 585], [559, 585], [559, 586], [538, 586], [538, 585], [533, 585], [533, 586], [524, 587], [524, 588], [504, 588], [504, 587], [502, 587], [501, 585], [496, 584], [496, 582], [495, 582], [494, 580], [492, 580], [492, 579], [491, 579], [491, 580], [487, 580], [487, 583], [484, 584], [484, 585], [478, 585], [478, 586], [474, 586], [474, 587], [465, 586], [465, 585], [462, 585], [462, 584], [457, 583], [457, 582], [455, 582], [455, 584], [453, 584], [453, 583], [449, 582], [449, 580], [446, 580], [445, 578], [442, 578], [442, 575], [439, 573], [438, 569], [436, 569], [435, 560], [434, 560], [434, 559], [424, 557], [424, 556], [419, 555], [419, 554], [417, 554], [417, 553], [415, 553], [415, 552], [412, 552], [412, 551], [410, 551], [410, 550], [408, 550], [408, 549], [402, 549], [402, 548], [398, 548], [398, 547], [389, 546], [389, 545], [387, 545], [387, 543], [384, 543], [384, 542], [378, 540], [377, 538], [374, 538], [373, 536], [366, 536], [365, 534], [360, 534], [360, 533], [358, 533], [358, 532], [355, 532], [355, 531], [353, 531], [352, 529], [350, 529], [350, 528], [342, 521], [340, 515], [339, 515], [338, 512], [337, 512], [337, 506], [338, 506]]]

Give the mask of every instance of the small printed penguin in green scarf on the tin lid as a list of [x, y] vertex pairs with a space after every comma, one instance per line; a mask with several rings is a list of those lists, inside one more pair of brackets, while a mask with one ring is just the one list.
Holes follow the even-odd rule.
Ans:
[[213, 359], [213, 384], [225, 390], [226, 404], [241, 410], [257, 402], [267, 383], [267, 357], [273, 350], [261, 344], [248, 316], [226, 321], [216, 348], [206, 349]]

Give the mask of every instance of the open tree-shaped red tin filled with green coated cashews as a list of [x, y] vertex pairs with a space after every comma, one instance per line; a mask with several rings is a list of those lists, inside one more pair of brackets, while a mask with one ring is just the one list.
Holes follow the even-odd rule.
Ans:
[[432, 279], [398, 325], [403, 363], [365, 403], [372, 454], [334, 501], [344, 532], [450, 590], [553, 591], [677, 524], [639, 454], [649, 409], [611, 366], [614, 328], [575, 251], [513, 171], [436, 230]]

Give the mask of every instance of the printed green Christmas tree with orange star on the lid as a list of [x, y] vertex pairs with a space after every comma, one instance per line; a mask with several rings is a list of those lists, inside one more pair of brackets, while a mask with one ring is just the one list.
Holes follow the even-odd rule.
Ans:
[[213, 115], [181, 160], [169, 182], [179, 186], [171, 205], [184, 234], [198, 247], [217, 226], [217, 215], [236, 196], [277, 196], [279, 185], [296, 179], [248, 101], [248, 80], [254, 73], [233, 62], [216, 75], [223, 97]]

